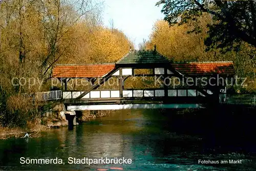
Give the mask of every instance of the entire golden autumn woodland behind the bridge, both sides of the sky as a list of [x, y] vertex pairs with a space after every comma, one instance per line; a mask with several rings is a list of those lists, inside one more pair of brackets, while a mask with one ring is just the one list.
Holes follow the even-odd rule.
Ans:
[[[113, 21], [111, 28], [103, 26], [102, 10], [104, 4], [92, 0], [0, 0], [1, 126], [36, 122], [40, 109], [19, 95], [48, 91], [51, 71], [57, 63], [115, 62], [130, 47], [134, 49], [133, 42], [114, 27]], [[168, 18], [158, 20], [150, 39], [142, 40], [140, 50], [151, 50], [156, 45], [158, 52], [174, 62], [234, 61], [236, 74], [248, 78], [246, 91], [255, 91], [255, 46], [240, 41], [239, 50], [206, 51], [208, 24], [216, 20], [207, 12], [186, 19], [184, 24], [172, 25]], [[195, 31], [195, 25], [201, 30]], [[34, 77], [43, 84], [13, 86], [15, 77]]]

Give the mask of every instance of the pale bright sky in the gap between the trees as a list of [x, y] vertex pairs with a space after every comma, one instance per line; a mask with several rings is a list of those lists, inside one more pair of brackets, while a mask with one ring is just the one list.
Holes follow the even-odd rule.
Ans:
[[148, 40], [153, 25], [163, 19], [161, 7], [155, 6], [158, 0], [105, 0], [103, 23], [110, 27], [113, 19], [114, 28], [124, 32], [135, 43], [135, 48]]

